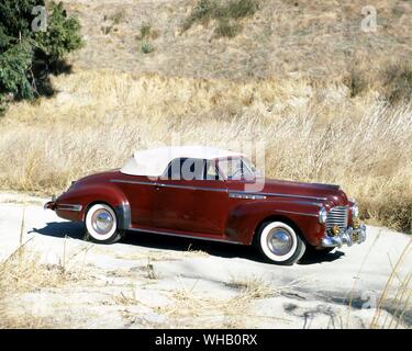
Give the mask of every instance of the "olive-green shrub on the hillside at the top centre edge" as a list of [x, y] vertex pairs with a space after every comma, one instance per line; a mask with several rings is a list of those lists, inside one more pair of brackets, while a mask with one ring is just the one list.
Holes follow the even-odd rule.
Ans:
[[186, 19], [182, 30], [189, 30], [196, 22], [207, 24], [210, 20], [218, 20], [215, 34], [218, 36], [235, 36], [241, 30], [237, 20], [253, 15], [259, 5], [257, 0], [199, 0], [191, 14]]

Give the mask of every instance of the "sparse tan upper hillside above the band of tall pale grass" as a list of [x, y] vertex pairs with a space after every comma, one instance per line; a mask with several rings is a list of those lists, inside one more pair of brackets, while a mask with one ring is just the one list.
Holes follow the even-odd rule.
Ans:
[[[389, 57], [410, 60], [412, 55], [411, 1], [258, 0], [258, 11], [241, 19], [234, 38], [216, 37], [215, 20], [182, 32], [198, 0], [64, 2], [83, 25], [88, 45], [74, 63], [85, 69], [330, 81], [359, 64], [376, 72]], [[376, 8], [377, 32], [361, 31], [364, 5]], [[142, 24], [154, 33], [149, 55], [140, 52]]]

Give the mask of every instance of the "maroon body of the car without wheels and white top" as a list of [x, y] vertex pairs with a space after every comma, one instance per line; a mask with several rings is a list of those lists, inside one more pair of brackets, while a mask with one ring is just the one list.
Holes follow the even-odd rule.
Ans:
[[[183, 152], [178, 156], [171, 157], [171, 162], [189, 158]], [[170, 162], [157, 176], [131, 174], [122, 169], [88, 176], [45, 207], [62, 218], [85, 222], [88, 210], [102, 203], [113, 208], [122, 230], [241, 245], [253, 244], [260, 226], [274, 220], [289, 224], [307, 246], [320, 250], [365, 240], [365, 226], [354, 213], [356, 204], [339, 186], [256, 174], [230, 179], [220, 169], [221, 161], [236, 157], [244, 156], [193, 158], [204, 165], [213, 161], [218, 177], [212, 179], [172, 179], [167, 171]], [[250, 191], [257, 181], [263, 185]], [[320, 220], [321, 211], [326, 213], [325, 220]]]

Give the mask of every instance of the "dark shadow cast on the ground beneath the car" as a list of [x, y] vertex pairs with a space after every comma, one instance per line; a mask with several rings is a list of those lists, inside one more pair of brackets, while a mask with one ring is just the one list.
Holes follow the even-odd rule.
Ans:
[[[69, 237], [82, 239], [85, 237], [85, 226], [75, 222], [51, 222], [43, 228], [32, 228], [29, 233], [51, 236], [55, 238]], [[122, 239], [122, 244], [141, 246], [145, 248], [170, 250], [170, 251], [204, 251], [211, 256], [221, 258], [243, 258], [260, 263], [265, 263], [258, 250], [253, 246], [231, 245], [225, 242], [204, 241], [199, 239], [168, 237], [153, 233], [127, 231]], [[307, 253], [299, 264], [316, 264], [332, 262], [339, 259], [344, 252], [335, 251], [329, 254], [316, 252]]]

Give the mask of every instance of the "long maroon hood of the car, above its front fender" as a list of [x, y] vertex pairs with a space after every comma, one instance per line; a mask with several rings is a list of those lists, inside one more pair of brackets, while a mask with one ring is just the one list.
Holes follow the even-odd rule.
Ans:
[[265, 183], [259, 193], [280, 194], [285, 197], [297, 197], [321, 203], [330, 203], [333, 206], [346, 206], [348, 199], [339, 185], [302, 183], [265, 178]]

